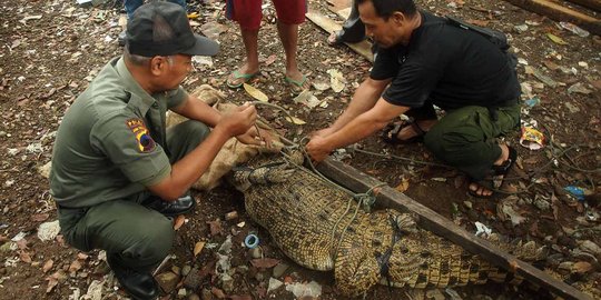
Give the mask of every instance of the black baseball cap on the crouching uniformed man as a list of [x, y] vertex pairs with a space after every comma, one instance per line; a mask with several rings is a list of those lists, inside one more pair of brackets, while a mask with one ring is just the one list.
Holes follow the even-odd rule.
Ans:
[[[155, 23], [162, 22], [173, 38], [154, 40]], [[215, 56], [219, 44], [191, 31], [186, 10], [167, 1], [151, 1], [139, 7], [127, 24], [127, 47], [129, 53], [142, 57], [155, 56]]]

